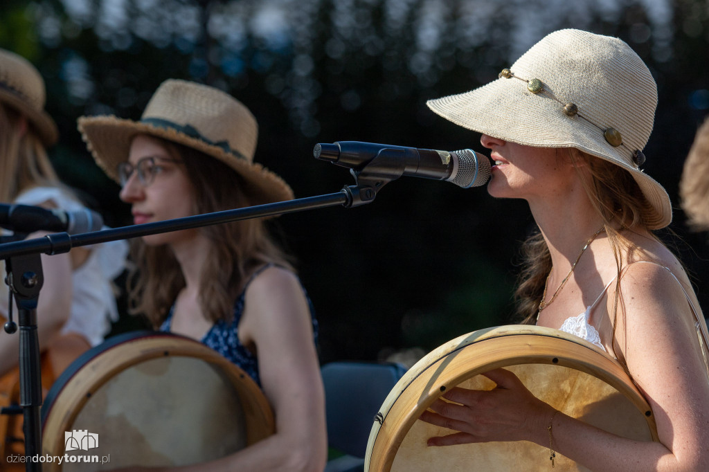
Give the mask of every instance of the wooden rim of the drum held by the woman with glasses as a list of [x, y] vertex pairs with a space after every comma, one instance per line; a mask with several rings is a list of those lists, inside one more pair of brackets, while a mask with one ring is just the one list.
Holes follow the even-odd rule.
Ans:
[[89, 350], [57, 379], [42, 410], [43, 454], [64, 454], [64, 432], [71, 429], [70, 425], [91, 395], [108, 380], [141, 362], [164, 356], [201, 359], [225, 374], [235, 386], [242, 403], [247, 444], [253, 444], [275, 432], [273, 412], [262, 390], [245, 371], [218, 352], [181, 335], [152, 331], [129, 332], [111, 337], [104, 344]]

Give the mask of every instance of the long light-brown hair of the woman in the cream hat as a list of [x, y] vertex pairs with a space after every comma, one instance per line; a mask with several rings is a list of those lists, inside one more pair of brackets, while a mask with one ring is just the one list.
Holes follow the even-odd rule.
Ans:
[[[618, 277], [615, 279], [615, 300], [613, 301], [613, 339], [615, 341], [615, 326], [618, 322], [618, 309], [624, 310], [623, 296], [620, 292], [620, 274], [623, 271], [623, 254], [637, 251], [637, 247], [623, 235], [624, 231], [634, 227], [645, 227], [645, 215], [652, 212], [652, 207], [644, 198], [640, 187], [629, 172], [604, 159], [591, 156], [569, 148], [557, 150], [569, 152], [571, 162], [576, 167], [581, 182], [586, 189], [591, 204], [598, 215], [603, 218], [605, 233], [613, 248]], [[588, 169], [582, 172], [581, 168]], [[616, 227], [620, 222], [621, 229]], [[630, 255], [629, 254], [629, 255]], [[552, 269], [552, 258], [549, 248], [537, 228], [525, 240], [522, 247], [522, 271], [515, 290], [517, 314], [523, 324], [533, 325], [537, 321], [539, 304], [544, 293], [547, 275]]]

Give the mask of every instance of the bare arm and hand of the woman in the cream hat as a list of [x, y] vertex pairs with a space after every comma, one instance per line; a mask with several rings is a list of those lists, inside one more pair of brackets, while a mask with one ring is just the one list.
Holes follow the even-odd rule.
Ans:
[[[709, 470], [709, 381], [686, 296], [666, 269], [635, 264], [621, 283], [625, 318], [619, 316], [620, 352], [654, 412], [659, 442], [637, 442], [557, 412], [554, 449], [593, 471]], [[611, 302], [612, 303], [612, 302]], [[553, 410], [515, 376], [493, 371], [491, 392], [454, 388], [422, 419], [462, 433], [430, 439], [432, 445], [526, 439], [549, 447]]]

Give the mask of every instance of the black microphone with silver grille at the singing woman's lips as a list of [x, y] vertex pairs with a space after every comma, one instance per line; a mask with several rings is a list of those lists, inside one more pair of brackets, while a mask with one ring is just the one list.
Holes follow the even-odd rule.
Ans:
[[383, 156], [396, 162], [403, 159], [403, 175], [445, 180], [464, 189], [484, 185], [490, 179], [490, 160], [473, 150], [454, 152], [374, 144], [373, 142], [339, 141], [317, 144], [316, 159], [342, 167], [360, 170], [374, 157]]

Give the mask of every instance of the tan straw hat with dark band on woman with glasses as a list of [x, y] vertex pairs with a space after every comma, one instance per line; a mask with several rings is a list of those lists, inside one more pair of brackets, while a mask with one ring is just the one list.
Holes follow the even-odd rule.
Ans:
[[256, 118], [246, 106], [211, 86], [168, 79], [157, 88], [138, 121], [82, 116], [79, 131], [99, 167], [118, 182], [118, 164], [128, 160], [136, 135], [151, 135], [216, 157], [240, 174], [250, 203], [294, 198], [280, 176], [254, 162]]

